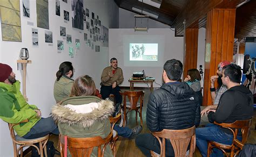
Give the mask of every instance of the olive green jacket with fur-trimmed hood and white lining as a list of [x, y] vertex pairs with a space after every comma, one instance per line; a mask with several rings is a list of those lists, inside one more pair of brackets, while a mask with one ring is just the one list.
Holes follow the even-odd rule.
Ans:
[[[59, 102], [53, 106], [51, 114], [63, 135], [75, 138], [105, 138], [111, 132], [109, 117], [113, 111], [112, 101], [96, 96], [78, 96]], [[97, 148], [93, 149], [91, 156], [97, 156]], [[109, 145], [104, 156], [113, 156]]]

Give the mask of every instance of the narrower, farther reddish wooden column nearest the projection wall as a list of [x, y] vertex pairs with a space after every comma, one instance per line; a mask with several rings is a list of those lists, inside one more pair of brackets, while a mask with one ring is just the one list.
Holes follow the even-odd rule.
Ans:
[[187, 70], [197, 68], [198, 28], [186, 28], [183, 79]]

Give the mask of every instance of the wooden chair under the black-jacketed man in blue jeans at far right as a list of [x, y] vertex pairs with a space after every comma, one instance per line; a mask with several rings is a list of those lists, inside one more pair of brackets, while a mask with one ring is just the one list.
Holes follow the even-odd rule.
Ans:
[[[230, 150], [230, 156], [237, 155], [241, 151], [241, 145], [244, 145], [250, 126], [252, 125], [252, 118], [248, 120], [237, 120], [234, 123], [217, 123], [214, 122], [216, 125], [220, 125], [221, 127], [225, 127], [229, 129], [233, 133], [233, 142], [232, 145], [225, 145], [220, 144], [218, 142], [214, 141], [208, 141], [208, 149], [207, 149], [207, 156], [210, 156], [212, 148], [218, 148], [220, 149], [226, 156], [229, 156], [225, 150]], [[237, 139], [238, 130], [241, 129], [242, 132], [242, 141], [239, 141]], [[235, 153], [236, 151], [236, 153]]]

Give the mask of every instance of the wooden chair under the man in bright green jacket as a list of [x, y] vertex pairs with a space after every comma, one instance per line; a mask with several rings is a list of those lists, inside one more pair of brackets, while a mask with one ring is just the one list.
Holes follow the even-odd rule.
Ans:
[[[29, 121], [24, 120], [21, 123], [26, 123], [26, 122], [29, 122]], [[23, 156], [23, 147], [32, 146], [37, 149], [38, 154], [41, 157], [43, 157], [44, 154], [47, 157], [46, 143], [49, 139], [49, 134], [45, 135], [44, 137], [36, 138], [36, 139], [22, 138], [19, 135], [15, 135], [15, 132], [14, 132], [14, 126], [19, 125], [21, 123], [16, 123], [16, 124], [8, 123], [9, 129], [10, 129], [10, 134], [11, 134], [11, 139], [12, 139], [12, 144], [14, 145], [14, 156], [19, 156], [19, 151], [21, 151], [20, 156]], [[35, 145], [36, 143], [39, 143], [39, 148]], [[20, 146], [17, 148], [17, 145], [20, 145]], [[43, 149], [44, 149], [44, 153], [43, 153]]]

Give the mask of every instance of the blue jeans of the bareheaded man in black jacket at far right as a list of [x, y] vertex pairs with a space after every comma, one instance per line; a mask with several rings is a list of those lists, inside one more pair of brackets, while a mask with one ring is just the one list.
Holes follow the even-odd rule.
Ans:
[[[238, 139], [240, 140], [241, 137]], [[196, 143], [202, 156], [207, 156], [207, 141], [215, 141], [220, 144], [231, 145], [233, 142], [233, 134], [227, 134], [215, 124], [207, 124], [206, 127], [196, 129]], [[211, 156], [223, 156], [220, 149], [213, 148]]]

